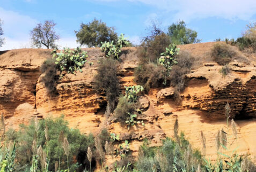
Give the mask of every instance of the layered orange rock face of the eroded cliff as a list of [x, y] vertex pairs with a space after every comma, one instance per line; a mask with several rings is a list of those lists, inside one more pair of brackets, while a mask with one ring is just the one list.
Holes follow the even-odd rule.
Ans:
[[[4, 113], [6, 127], [18, 129], [20, 123], [27, 124], [33, 116], [42, 118], [63, 114], [70, 127], [80, 129], [84, 134], [98, 134], [107, 128], [109, 132], [120, 134], [121, 140], [131, 140], [134, 155], [144, 138], [151, 140], [152, 146], [161, 145], [161, 139], [173, 137], [173, 126], [179, 120], [179, 131], [194, 148], [201, 150], [201, 131], [206, 136], [206, 156], [216, 159], [215, 136], [224, 129], [234, 140], [231, 128], [226, 128], [224, 106], [229, 102], [231, 115], [235, 117], [238, 129], [238, 153], [256, 154], [256, 69], [255, 54], [237, 53], [247, 58], [247, 64], [233, 60], [231, 73], [223, 76], [222, 68], [209, 57], [214, 43], [199, 43], [180, 46], [196, 57], [196, 65], [186, 75], [187, 87], [180, 93], [181, 103], [174, 100], [173, 88], [153, 88], [141, 97], [145, 108], [138, 119], [145, 127], [134, 126], [127, 130], [119, 123], [104, 115], [106, 99], [104, 93], [93, 90], [93, 76], [97, 73], [97, 61], [104, 57], [98, 48], [85, 49], [89, 58], [81, 72], [67, 74], [57, 84], [57, 96], [50, 96], [41, 81], [45, 74], [40, 72], [50, 51], [21, 49], [0, 52], [0, 112]], [[136, 48], [124, 48], [120, 57], [119, 78], [122, 87], [135, 85], [134, 68], [138, 65]], [[90, 66], [89, 62], [93, 62]]]

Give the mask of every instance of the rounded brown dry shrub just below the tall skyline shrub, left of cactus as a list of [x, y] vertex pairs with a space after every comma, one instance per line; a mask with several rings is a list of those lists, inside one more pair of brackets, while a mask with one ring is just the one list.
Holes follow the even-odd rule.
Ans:
[[153, 64], [152, 62], [139, 65], [134, 71], [134, 81], [143, 85], [145, 91], [149, 91], [150, 87], [159, 87], [163, 83], [162, 65]]

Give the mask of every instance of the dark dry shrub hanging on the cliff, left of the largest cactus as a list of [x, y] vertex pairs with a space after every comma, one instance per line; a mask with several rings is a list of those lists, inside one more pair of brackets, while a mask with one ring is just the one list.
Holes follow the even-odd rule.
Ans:
[[45, 84], [45, 87], [51, 96], [57, 95], [56, 86], [58, 75], [56, 74], [57, 68], [54, 61], [55, 59], [49, 58], [44, 61], [41, 66], [41, 72], [45, 73], [45, 76], [42, 77], [41, 81]]

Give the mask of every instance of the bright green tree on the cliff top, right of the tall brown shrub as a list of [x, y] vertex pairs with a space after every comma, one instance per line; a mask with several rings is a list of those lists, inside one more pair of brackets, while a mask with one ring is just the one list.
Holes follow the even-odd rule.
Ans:
[[195, 30], [186, 27], [184, 21], [179, 21], [177, 24], [172, 24], [168, 28], [168, 33], [171, 41], [174, 44], [192, 44], [201, 42], [197, 39], [198, 33]]

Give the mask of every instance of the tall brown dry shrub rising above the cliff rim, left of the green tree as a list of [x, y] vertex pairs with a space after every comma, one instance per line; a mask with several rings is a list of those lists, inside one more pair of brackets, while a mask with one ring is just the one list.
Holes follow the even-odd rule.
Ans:
[[155, 36], [152, 40], [143, 42], [138, 48], [138, 57], [142, 64], [144, 62], [156, 62], [160, 57], [160, 53], [165, 51], [165, 48], [171, 44], [170, 37], [164, 33]]

